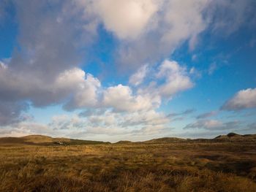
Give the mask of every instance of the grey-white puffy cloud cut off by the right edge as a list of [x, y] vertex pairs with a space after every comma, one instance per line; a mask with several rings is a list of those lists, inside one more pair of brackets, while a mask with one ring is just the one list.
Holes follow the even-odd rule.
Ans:
[[248, 88], [236, 93], [222, 105], [222, 110], [237, 111], [256, 107], [256, 88]]

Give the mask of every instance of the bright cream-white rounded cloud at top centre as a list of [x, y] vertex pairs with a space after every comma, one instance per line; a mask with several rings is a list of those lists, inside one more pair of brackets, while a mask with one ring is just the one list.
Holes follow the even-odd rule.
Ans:
[[154, 0], [99, 0], [94, 9], [102, 18], [105, 28], [119, 38], [136, 38], [158, 10]]

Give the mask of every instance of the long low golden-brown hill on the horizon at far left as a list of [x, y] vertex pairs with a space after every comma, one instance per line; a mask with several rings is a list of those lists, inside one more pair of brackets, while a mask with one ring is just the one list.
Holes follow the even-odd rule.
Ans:
[[25, 137], [0, 137], [0, 145], [96, 145], [110, 142], [88, 141], [81, 139], [53, 138], [44, 135]]

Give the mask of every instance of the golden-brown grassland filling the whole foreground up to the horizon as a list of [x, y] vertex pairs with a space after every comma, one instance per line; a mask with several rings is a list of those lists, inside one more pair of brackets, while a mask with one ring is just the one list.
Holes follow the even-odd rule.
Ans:
[[255, 138], [0, 139], [0, 191], [256, 191]]

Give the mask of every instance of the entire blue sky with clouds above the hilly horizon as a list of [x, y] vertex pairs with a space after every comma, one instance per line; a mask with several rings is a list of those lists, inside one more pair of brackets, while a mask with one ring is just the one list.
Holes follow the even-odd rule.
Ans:
[[1, 0], [0, 137], [256, 133], [254, 0]]

